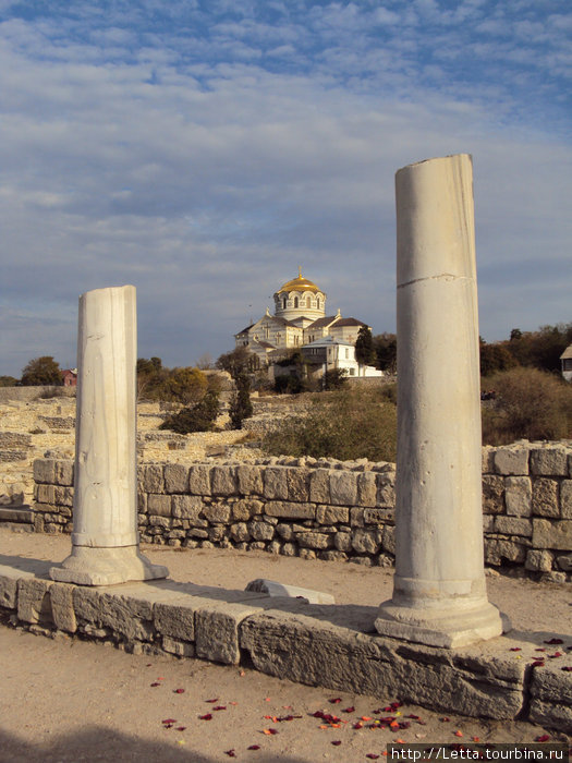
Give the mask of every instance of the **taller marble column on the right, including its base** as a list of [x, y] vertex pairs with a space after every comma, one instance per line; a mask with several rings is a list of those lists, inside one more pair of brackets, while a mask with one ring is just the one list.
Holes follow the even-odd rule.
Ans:
[[453, 647], [502, 632], [483, 559], [472, 159], [404, 167], [395, 193], [395, 576], [376, 629]]

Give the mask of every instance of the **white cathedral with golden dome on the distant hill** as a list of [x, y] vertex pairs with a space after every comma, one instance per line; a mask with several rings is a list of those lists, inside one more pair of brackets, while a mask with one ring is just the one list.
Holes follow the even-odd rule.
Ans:
[[[266, 315], [234, 335], [236, 347], [245, 347], [269, 368], [289, 352], [300, 349], [318, 371], [343, 368], [348, 376], [382, 376], [384, 373], [355, 360], [355, 340], [362, 326], [356, 318], [326, 315], [327, 295], [299, 271], [273, 295], [275, 314]], [[367, 327], [369, 328], [369, 327]]]

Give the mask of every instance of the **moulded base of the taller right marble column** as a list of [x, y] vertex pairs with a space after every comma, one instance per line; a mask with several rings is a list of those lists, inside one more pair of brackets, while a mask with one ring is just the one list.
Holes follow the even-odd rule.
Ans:
[[445, 649], [468, 646], [511, 629], [509, 618], [488, 602], [471, 607], [449, 602], [441, 607], [406, 607], [390, 600], [380, 605], [375, 626], [381, 635]]

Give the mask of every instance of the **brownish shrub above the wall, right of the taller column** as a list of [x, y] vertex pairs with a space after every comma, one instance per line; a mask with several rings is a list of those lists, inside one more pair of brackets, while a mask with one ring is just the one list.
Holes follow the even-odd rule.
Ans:
[[572, 387], [558, 376], [519, 367], [490, 376], [486, 384], [496, 400], [483, 409], [484, 445], [572, 436]]

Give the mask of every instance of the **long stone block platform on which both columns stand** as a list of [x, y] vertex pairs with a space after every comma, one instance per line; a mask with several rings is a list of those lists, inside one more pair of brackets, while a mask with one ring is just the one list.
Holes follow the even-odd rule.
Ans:
[[[49, 580], [50, 561], [3, 560], [1, 618], [37, 633], [241, 664], [311, 686], [572, 734], [572, 670], [562, 669], [572, 666], [570, 635], [511, 631], [470, 647], [437, 649], [376, 634], [376, 607], [173, 580], [83, 588]], [[547, 645], [551, 640], [561, 643]]]

